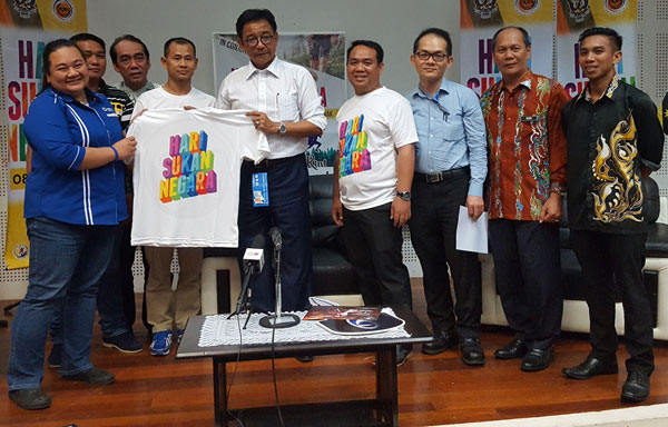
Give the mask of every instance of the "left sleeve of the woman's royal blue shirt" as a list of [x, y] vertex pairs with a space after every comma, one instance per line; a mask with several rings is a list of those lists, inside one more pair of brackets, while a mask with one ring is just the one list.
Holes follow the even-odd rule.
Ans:
[[[26, 116], [23, 132], [30, 147], [53, 168], [78, 170], [86, 148], [72, 141], [66, 115], [53, 99], [37, 98]], [[82, 138], [86, 132], [86, 128], [81, 128]]]

